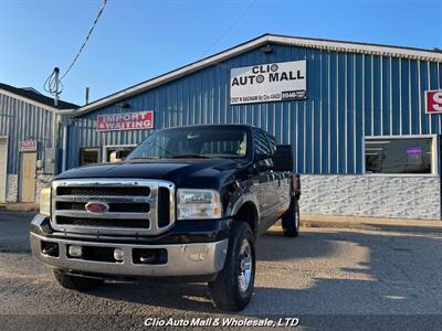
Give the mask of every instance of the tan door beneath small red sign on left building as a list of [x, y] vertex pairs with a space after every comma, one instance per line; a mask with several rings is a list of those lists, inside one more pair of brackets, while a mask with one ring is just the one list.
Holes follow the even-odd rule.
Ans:
[[20, 201], [35, 202], [36, 153], [21, 153]]

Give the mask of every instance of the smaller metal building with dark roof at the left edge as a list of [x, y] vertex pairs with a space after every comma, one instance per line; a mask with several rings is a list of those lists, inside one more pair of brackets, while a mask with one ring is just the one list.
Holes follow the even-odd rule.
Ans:
[[54, 145], [63, 109], [78, 106], [43, 96], [33, 88], [0, 83], [0, 202], [34, 202], [56, 172]]

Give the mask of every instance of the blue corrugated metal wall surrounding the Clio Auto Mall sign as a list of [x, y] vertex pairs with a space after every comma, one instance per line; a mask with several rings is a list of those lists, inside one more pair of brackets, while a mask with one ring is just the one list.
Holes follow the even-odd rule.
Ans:
[[[155, 127], [244, 122], [292, 143], [299, 173], [361, 173], [364, 136], [440, 134], [441, 118], [424, 114], [424, 90], [442, 87], [440, 63], [379, 55], [273, 45], [75, 119], [70, 128], [69, 167], [81, 147], [138, 143], [147, 131], [96, 132], [98, 114], [155, 110]], [[307, 99], [229, 105], [230, 68], [307, 61]]]

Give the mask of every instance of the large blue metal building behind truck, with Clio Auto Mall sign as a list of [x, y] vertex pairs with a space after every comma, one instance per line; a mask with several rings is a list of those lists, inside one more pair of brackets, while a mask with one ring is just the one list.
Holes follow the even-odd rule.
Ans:
[[[245, 122], [293, 146], [304, 213], [440, 220], [441, 63], [431, 50], [265, 34], [81, 107], [64, 158], [110, 161], [154, 129]], [[134, 124], [144, 116], [151, 129]]]

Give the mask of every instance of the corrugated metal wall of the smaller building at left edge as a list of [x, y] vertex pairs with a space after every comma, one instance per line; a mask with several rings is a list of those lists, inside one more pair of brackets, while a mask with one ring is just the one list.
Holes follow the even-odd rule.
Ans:
[[52, 145], [53, 113], [0, 92], [0, 136], [8, 136], [8, 173], [20, 169], [19, 143], [38, 141], [38, 158], [44, 160], [44, 147]]

